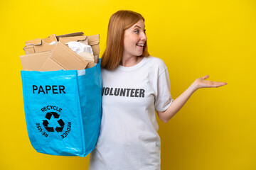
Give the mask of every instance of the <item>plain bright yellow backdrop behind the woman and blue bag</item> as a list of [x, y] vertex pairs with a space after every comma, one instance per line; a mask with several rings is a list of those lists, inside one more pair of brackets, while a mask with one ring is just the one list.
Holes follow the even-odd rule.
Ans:
[[149, 53], [169, 69], [177, 98], [198, 77], [228, 85], [199, 89], [169, 123], [159, 120], [161, 169], [256, 169], [256, 2], [253, 0], [0, 1], [0, 169], [87, 169], [89, 156], [37, 153], [28, 140], [20, 55], [26, 40], [100, 34], [119, 9], [146, 18]]

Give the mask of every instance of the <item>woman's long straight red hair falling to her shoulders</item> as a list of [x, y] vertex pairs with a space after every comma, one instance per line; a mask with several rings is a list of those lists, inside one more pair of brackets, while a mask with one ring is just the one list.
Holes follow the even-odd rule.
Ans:
[[[107, 29], [106, 50], [101, 57], [102, 68], [113, 70], [118, 67], [122, 61], [124, 50], [124, 30], [127, 30], [141, 19], [145, 21], [141, 14], [134, 11], [121, 10], [112, 14]], [[149, 56], [146, 42], [141, 56]]]

